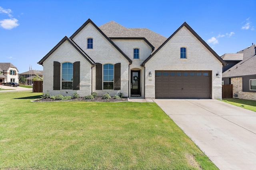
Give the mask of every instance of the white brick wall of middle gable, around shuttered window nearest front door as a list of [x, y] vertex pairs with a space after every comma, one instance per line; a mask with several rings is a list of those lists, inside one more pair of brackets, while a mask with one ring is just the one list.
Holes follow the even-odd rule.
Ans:
[[[93, 39], [93, 49], [87, 49], [87, 38]], [[98, 96], [103, 96], [106, 92], [114, 96], [122, 92], [128, 96], [129, 84], [129, 62], [128, 60], [91, 24], [88, 23], [73, 39], [90, 58], [103, 64], [121, 63], [121, 90], [96, 90], [96, 67], [92, 68], [92, 91]]]

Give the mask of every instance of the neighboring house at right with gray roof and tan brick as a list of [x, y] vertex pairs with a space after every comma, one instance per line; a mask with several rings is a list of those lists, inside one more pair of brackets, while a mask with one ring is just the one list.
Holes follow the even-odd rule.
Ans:
[[243, 59], [223, 72], [223, 84], [233, 84], [234, 98], [256, 100], [256, 45], [237, 54], [243, 55]]

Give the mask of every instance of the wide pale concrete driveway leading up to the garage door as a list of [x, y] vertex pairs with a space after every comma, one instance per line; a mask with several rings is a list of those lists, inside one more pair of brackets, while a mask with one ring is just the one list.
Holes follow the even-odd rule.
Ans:
[[220, 170], [256, 169], [256, 112], [218, 100], [154, 100]]

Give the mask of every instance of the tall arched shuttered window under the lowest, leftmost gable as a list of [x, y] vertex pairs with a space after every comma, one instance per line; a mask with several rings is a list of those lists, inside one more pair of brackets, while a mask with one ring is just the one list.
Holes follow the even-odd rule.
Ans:
[[62, 89], [73, 89], [73, 63], [62, 63]]

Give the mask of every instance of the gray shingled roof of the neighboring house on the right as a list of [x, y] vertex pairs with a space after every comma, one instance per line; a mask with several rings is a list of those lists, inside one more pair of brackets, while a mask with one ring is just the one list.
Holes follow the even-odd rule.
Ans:
[[254, 45], [238, 51], [238, 53], [243, 54], [244, 59], [222, 73], [222, 77], [256, 75], [256, 55]]

